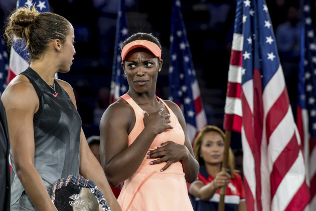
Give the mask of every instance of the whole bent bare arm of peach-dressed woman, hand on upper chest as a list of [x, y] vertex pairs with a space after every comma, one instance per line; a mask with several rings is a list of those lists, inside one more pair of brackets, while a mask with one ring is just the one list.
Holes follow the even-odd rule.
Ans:
[[144, 115], [145, 128], [128, 145], [128, 129], [134, 112], [122, 99], [108, 107], [100, 122], [100, 157], [102, 167], [112, 186], [117, 186], [129, 178], [139, 167], [153, 139], [157, 134], [172, 127], [170, 120], [161, 112]]

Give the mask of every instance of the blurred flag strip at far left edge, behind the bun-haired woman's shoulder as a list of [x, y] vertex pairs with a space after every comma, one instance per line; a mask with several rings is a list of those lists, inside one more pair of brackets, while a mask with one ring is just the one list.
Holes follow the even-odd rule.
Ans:
[[0, 96], [7, 87], [7, 76], [9, 70], [8, 53], [5, 47], [5, 40], [0, 39]]

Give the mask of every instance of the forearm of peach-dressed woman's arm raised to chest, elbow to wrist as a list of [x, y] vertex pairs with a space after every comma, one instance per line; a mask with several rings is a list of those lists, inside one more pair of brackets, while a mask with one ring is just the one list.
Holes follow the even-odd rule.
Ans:
[[111, 185], [117, 186], [136, 172], [155, 136], [144, 129], [129, 147], [102, 166]]

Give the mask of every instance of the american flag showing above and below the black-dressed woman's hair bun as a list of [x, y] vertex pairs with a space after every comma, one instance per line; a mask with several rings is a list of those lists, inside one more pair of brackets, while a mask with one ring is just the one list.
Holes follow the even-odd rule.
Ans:
[[[17, 9], [20, 7], [33, 7], [33, 5], [36, 6], [40, 13], [49, 12], [48, 0], [18, 0]], [[28, 51], [23, 50], [24, 46], [25, 42], [14, 42], [12, 44], [9, 61], [8, 83], [30, 66], [28, 62]]]

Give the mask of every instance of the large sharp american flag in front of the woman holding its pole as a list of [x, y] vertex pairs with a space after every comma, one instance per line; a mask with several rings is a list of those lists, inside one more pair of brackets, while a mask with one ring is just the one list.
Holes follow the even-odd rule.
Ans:
[[301, 141], [264, 0], [237, 1], [230, 65], [225, 114], [238, 117], [224, 129], [241, 131], [247, 210], [303, 210]]

